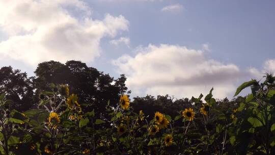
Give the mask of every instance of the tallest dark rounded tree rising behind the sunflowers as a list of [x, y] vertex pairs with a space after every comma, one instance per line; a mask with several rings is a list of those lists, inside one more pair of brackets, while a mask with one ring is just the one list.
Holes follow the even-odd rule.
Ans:
[[35, 74], [37, 94], [51, 91], [51, 83], [66, 84], [71, 94], [78, 95], [80, 103], [88, 104], [83, 108], [84, 111], [95, 109], [104, 112], [108, 100], [114, 106], [119, 102], [119, 96], [127, 91], [124, 74], [114, 79], [80, 61], [71, 60], [65, 64], [56, 61], [43, 62], [38, 65]]

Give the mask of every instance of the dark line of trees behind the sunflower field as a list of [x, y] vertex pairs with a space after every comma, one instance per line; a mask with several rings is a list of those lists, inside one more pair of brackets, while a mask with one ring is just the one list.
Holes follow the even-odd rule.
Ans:
[[[28, 77], [25, 72], [13, 69], [11, 66], [0, 69], [0, 93], [6, 93], [6, 98], [11, 99], [11, 109], [24, 112], [37, 108], [43, 92], [52, 92], [61, 84], [68, 85], [70, 94], [77, 94], [82, 104], [91, 105], [83, 109], [91, 111], [95, 109], [104, 113], [105, 106], [109, 100], [111, 105], [119, 102], [121, 94], [130, 94], [131, 91], [125, 85], [126, 77], [121, 74], [118, 79], [96, 68], [88, 67], [80, 61], [67, 61], [65, 64], [48, 61], [38, 64], [34, 71], [35, 76]], [[238, 97], [229, 101], [227, 98], [219, 100], [220, 109], [228, 109], [223, 102], [239, 103], [243, 99]], [[172, 117], [178, 115], [180, 109], [191, 106], [191, 99], [177, 99], [169, 95], [158, 95], [156, 97], [147, 95], [145, 97], [133, 97], [131, 106], [136, 113], [143, 110], [151, 118], [156, 111], [166, 113]], [[227, 105], [227, 106], [225, 106]]]

